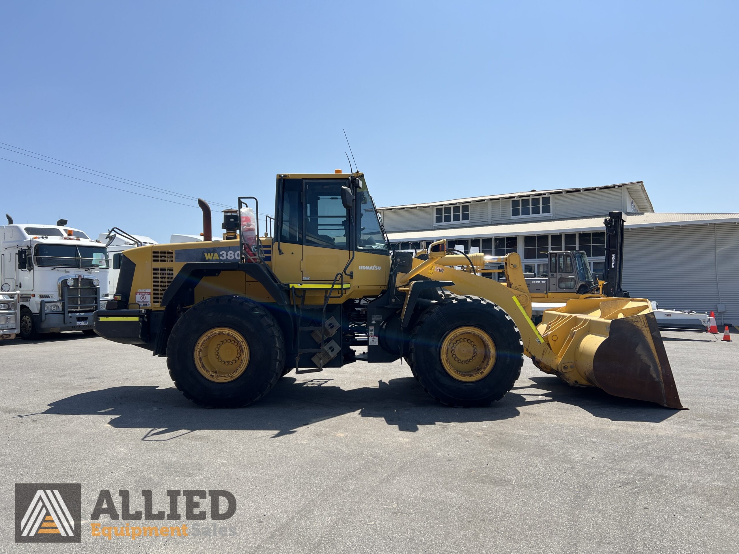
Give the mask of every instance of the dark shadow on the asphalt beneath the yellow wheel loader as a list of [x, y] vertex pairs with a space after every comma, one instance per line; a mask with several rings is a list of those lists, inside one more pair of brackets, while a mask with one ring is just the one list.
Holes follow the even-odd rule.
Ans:
[[534, 384], [514, 387], [503, 400], [488, 408], [442, 406], [413, 377], [350, 390], [341, 389], [332, 381], [299, 382], [283, 377], [267, 397], [239, 409], [200, 408], [174, 388], [118, 386], [57, 400], [40, 414], [100, 415], [113, 428], [146, 429], [142, 440], [172, 440], [200, 430], [268, 431], [271, 437], [281, 437], [305, 425], [353, 412], [361, 417], [382, 418], [387, 425], [406, 432], [418, 431], [423, 425], [507, 420], [520, 415], [522, 408], [555, 401], [614, 421], [658, 423], [677, 412], [652, 403], [612, 397], [597, 389], [573, 389], [556, 377], [534, 377]]

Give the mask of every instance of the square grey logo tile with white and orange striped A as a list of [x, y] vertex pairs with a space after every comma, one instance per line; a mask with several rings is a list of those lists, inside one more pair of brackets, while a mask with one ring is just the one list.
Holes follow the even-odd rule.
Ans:
[[79, 483], [16, 483], [16, 542], [79, 542]]

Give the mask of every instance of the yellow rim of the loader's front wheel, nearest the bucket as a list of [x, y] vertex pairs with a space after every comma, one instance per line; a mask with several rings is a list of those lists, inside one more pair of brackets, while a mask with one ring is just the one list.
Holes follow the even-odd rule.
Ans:
[[483, 329], [457, 327], [441, 343], [441, 364], [458, 381], [487, 377], [495, 365], [495, 343]]

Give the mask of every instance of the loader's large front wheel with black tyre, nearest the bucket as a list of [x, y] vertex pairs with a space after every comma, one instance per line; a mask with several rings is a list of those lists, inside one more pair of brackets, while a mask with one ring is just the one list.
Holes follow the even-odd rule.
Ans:
[[523, 344], [513, 320], [491, 301], [454, 295], [421, 315], [410, 366], [426, 392], [450, 406], [488, 406], [521, 373]]

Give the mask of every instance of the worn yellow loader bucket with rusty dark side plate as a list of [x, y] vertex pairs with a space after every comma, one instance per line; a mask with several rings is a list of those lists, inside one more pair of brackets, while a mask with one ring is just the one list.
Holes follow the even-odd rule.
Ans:
[[554, 373], [565, 382], [685, 409], [650, 301], [571, 300], [545, 311], [539, 332], [561, 360]]

